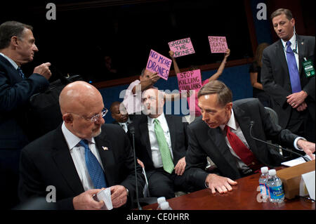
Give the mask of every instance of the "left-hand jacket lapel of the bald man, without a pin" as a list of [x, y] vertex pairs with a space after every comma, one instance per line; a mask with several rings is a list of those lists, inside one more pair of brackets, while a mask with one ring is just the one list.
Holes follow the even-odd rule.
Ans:
[[76, 166], [74, 166], [70, 150], [61, 131], [61, 126], [55, 131], [54, 143], [53, 159], [56, 166], [60, 169], [61, 176], [75, 195], [81, 194], [81, 192], [84, 192], [84, 187], [77, 173]]

